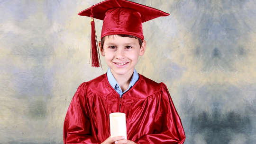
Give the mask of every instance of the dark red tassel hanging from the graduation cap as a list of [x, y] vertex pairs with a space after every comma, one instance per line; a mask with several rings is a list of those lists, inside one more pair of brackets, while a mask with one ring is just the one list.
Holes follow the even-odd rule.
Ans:
[[[98, 50], [98, 41], [95, 32], [95, 24], [94, 19], [91, 17], [91, 67], [100, 67], [101, 66], [101, 58], [100, 52]], [[102, 67], [101, 67], [102, 68]]]

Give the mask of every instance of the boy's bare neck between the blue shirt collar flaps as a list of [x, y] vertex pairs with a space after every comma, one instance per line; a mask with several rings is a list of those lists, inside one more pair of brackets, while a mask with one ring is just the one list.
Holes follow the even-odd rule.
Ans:
[[126, 74], [118, 75], [111, 71], [112, 75], [116, 79], [117, 83], [119, 84], [123, 92], [128, 89], [133, 72], [134, 72], [134, 69], [128, 71]]

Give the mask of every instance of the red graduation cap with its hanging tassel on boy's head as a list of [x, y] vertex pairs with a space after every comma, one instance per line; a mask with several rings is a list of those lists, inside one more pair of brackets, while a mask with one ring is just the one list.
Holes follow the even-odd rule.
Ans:
[[142, 23], [169, 14], [128, 0], [105, 0], [81, 11], [78, 15], [92, 19], [91, 66], [100, 67], [100, 54], [93, 18], [103, 20], [101, 38], [112, 34], [128, 34], [144, 40]]

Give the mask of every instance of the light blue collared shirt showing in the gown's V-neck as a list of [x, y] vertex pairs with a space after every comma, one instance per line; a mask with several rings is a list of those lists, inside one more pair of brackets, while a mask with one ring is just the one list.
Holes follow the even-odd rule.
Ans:
[[128, 89], [126, 91], [123, 92], [121, 87], [120, 87], [120, 85], [117, 83], [115, 77], [111, 73], [110, 68], [108, 69], [107, 77], [108, 77], [110, 85], [117, 91], [117, 93], [119, 93], [120, 97], [122, 97], [122, 95], [125, 92], [127, 92], [137, 82], [137, 80], [139, 79], [138, 73], [134, 69], [133, 75], [132, 75], [132, 78], [131, 78], [131, 81], [130, 81], [130, 84], [129, 84], [129, 87], [128, 87]]

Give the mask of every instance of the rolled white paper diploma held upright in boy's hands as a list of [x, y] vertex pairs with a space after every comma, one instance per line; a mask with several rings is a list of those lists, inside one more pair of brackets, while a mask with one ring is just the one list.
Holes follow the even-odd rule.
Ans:
[[110, 137], [114, 136], [125, 136], [127, 139], [125, 113], [110, 113]]

